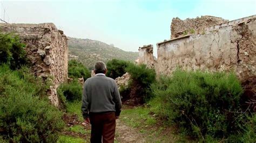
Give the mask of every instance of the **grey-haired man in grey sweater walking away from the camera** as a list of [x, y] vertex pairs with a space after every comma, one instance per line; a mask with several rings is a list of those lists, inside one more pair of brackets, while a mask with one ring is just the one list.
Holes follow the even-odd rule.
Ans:
[[82, 98], [84, 123], [91, 123], [91, 142], [114, 142], [116, 119], [122, 103], [116, 82], [106, 77], [106, 65], [99, 61], [94, 66], [95, 77], [85, 81]]

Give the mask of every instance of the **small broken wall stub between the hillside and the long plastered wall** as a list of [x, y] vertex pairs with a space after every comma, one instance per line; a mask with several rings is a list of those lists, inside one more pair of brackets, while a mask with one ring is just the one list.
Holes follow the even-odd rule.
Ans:
[[153, 56], [153, 45], [144, 45], [143, 47], [139, 47], [139, 58], [138, 64], [145, 64], [149, 68], [153, 68], [156, 60], [154, 60]]

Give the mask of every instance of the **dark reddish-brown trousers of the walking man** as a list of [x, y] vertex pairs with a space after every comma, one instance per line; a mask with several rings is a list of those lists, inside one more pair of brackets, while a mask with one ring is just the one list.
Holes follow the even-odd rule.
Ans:
[[116, 130], [115, 112], [90, 113], [91, 121], [91, 142], [114, 142]]

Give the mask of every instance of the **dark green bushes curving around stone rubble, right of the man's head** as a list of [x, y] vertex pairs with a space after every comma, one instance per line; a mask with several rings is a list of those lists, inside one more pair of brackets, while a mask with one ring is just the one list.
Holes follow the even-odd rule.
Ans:
[[116, 78], [126, 72], [131, 75], [128, 87], [120, 88], [120, 95], [123, 101], [136, 98], [137, 103], [143, 104], [152, 96], [150, 85], [156, 81], [154, 69], [147, 68], [146, 65], [136, 65], [132, 62], [113, 59], [107, 62], [107, 76]]

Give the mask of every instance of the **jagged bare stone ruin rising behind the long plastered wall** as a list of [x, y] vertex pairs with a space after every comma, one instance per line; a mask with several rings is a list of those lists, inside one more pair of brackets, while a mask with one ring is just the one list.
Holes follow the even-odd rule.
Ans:
[[182, 36], [187, 33], [194, 33], [198, 28], [206, 27], [215, 24], [228, 22], [220, 17], [201, 16], [197, 18], [187, 18], [181, 20], [178, 17], [172, 19], [171, 23], [171, 39]]

